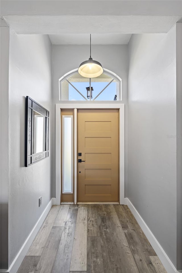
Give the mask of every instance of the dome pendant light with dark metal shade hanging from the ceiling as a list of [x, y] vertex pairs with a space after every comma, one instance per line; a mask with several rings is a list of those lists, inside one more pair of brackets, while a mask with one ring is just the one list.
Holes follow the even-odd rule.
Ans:
[[84, 61], [78, 68], [78, 73], [85, 78], [96, 78], [103, 73], [102, 65], [91, 58], [91, 34], [90, 34], [90, 58]]

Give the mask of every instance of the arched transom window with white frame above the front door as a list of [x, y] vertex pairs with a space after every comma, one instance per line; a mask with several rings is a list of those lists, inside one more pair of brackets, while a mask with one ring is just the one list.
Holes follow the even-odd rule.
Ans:
[[84, 78], [75, 69], [59, 79], [59, 100], [121, 100], [121, 78], [107, 69], [97, 78]]

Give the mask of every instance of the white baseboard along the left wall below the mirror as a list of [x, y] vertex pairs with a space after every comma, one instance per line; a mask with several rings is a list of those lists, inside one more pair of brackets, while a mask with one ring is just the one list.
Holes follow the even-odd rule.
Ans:
[[50, 202], [47, 204], [45, 210], [42, 212], [40, 218], [38, 219], [38, 221], [35, 224], [34, 228], [30, 232], [30, 234], [28, 235], [26, 241], [22, 245], [20, 251], [16, 255], [16, 257], [13, 260], [12, 264], [10, 265], [9, 269], [7, 269], [7, 270], [6, 269], [1, 269], [1, 271], [0, 271], [1, 273], [16, 273], [18, 271], [18, 268], [20, 267], [20, 264], [22, 263], [24, 257], [26, 256], [26, 253], [27, 253], [28, 249], [30, 248], [32, 242], [34, 241], [40, 227], [42, 226], [44, 220], [46, 219], [46, 216], [47, 216], [49, 210], [51, 209], [51, 207], [53, 205], [53, 199], [55, 199], [55, 198], [51, 198]]

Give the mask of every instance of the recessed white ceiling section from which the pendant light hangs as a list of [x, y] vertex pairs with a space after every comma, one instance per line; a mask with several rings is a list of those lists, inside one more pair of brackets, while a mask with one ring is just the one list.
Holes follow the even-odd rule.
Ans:
[[[89, 45], [90, 34], [49, 34], [53, 45]], [[131, 34], [91, 34], [92, 45], [127, 45]]]

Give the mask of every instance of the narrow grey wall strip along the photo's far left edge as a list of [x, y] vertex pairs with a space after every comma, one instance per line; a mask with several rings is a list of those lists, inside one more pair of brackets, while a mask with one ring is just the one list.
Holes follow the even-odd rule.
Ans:
[[1, 21], [1, 79], [0, 79], [0, 260], [1, 268], [8, 266], [8, 100], [9, 100], [9, 27]]

